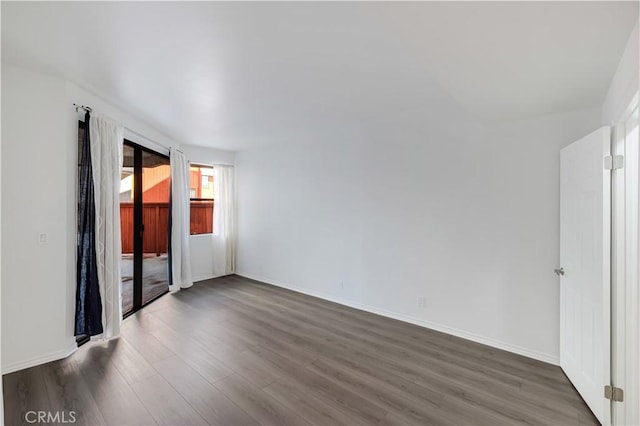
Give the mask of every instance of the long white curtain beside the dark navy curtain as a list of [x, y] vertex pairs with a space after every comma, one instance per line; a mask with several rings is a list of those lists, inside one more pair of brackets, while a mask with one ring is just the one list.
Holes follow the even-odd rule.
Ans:
[[114, 120], [91, 113], [91, 167], [96, 210], [96, 258], [98, 286], [102, 301], [101, 336], [120, 334], [122, 303], [120, 293], [120, 174], [124, 128]]

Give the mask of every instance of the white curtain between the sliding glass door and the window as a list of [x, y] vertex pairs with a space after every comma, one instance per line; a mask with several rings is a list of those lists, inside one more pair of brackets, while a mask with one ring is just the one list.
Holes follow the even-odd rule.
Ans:
[[184, 154], [171, 150], [171, 275], [169, 290], [191, 287], [191, 256], [189, 254], [189, 164]]

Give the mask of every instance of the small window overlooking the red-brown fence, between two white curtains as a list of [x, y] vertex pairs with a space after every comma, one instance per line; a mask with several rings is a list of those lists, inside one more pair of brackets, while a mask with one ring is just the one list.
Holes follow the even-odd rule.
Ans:
[[191, 164], [191, 235], [213, 232], [213, 167]]

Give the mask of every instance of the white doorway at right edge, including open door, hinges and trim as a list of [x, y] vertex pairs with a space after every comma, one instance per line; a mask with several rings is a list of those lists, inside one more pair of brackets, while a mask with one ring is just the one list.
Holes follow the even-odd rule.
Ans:
[[561, 151], [560, 365], [603, 425], [639, 417], [637, 96]]

